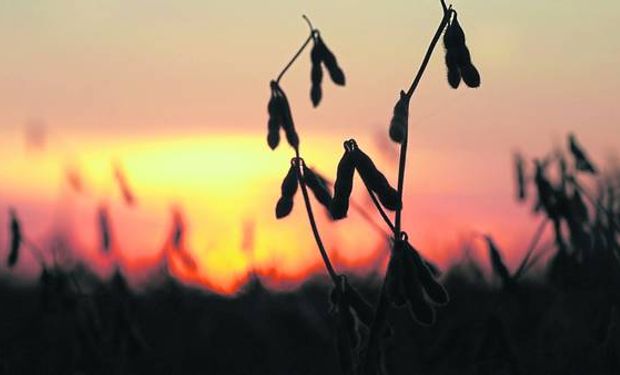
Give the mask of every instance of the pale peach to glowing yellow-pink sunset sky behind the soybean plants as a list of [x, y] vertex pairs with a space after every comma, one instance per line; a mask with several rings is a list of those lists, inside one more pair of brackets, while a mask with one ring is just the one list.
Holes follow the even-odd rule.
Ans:
[[[574, 132], [599, 164], [617, 155], [620, 5], [453, 5], [482, 85], [449, 88], [436, 50], [410, 111], [405, 228], [444, 265], [473, 231], [493, 233], [514, 264], [537, 219], [514, 201], [513, 152], [531, 159]], [[251, 272], [282, 283], [322, 272], [301, 197], [291, 218], [273, 217], [292, 151], [265, 142], [269, 80], [307, 37], [302, 14], [347, 76], [344, 88], [325, 80], [317, 109], [309, 51], [283, 79], [305, 159], [333, 178], [342, 141], [354, 137], [395, 182], [387, 124], [440, 20], [438, 1], [5, 0], [0, 210], [15, 207], [41, 247], [63, 233], [97, 263], [97, 207], [110, 207], [118, 246], [134, 262], [161, 249], [179, 207], [200, 266], [183, 278], [219, 291]], [[123, 204], [114, 163], [135, 207]], [[83, 180], [81, 193], [68, 171]], [[354, 197], [367, 204], [363, 191]], [[384, 238], [350, 216], [320, 218], [326, 242], [340, 267], [369, 272]], [[14, 273], [36, 272], [24, 263]]]

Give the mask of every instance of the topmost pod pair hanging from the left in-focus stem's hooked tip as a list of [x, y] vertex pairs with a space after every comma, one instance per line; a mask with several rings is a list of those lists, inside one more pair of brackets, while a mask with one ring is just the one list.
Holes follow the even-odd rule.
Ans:
[[312, 63], [312, 68], [310, 70], [310, 81], [312, 83], [310, 87], [310, 99], [312, 100], [312, 104], [316, 107], [323, 97], [323, 91], [321, 89], [321, 82], [323, 81], [322, 65], [325, 66], [331, 80], [336, 85], [344, 86], [345, 76], [338, 65], [336, 56], [327, 48], [323, 39], [321, 39], [321, 34], [316, 30], [313, 31], [312, 39], [314, 41], [314, 46], [312, 47], [312, 51], [310, 51], [310, 62]]

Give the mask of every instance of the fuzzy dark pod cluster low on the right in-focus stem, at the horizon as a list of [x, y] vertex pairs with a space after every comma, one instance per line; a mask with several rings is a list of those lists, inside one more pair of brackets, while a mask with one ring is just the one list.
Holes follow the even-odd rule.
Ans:
[[445, 305], [449, 299], [420, 254], [403, 239], [396, 240], [392, 247], [386, 288], [391, 303], [407, 305], [411, 316], [423, 325], [435, 321], [433, 305]]

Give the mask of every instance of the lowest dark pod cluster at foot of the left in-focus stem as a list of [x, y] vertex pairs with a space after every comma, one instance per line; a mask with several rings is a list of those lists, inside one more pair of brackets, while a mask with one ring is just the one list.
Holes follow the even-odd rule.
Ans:
[[342, 372], [353, 374], [355, 353], [360, 346], [360, 324], [370, 327], [373, 309], [345, 276], [339, 276], [337, 284], [330, 293], [330, 313], [336, 318], [336, 346]]

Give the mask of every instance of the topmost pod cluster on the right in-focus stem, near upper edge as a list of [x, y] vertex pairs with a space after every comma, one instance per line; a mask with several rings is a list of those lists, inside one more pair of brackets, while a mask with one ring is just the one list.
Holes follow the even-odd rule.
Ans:
[[465, 33], [459, 24], [456, 12], [452, 21], [446, 27], [443, 37], [446, 49], [446, 67], [448, 68], [448, 83], [456, 89], [461, 79], [469, 87], [480, 86], [480, 73], [471, 62], [469, 49], [465, 44]]

